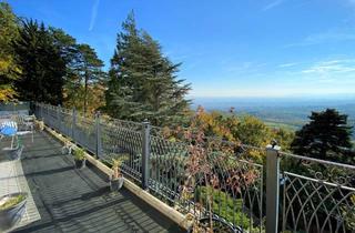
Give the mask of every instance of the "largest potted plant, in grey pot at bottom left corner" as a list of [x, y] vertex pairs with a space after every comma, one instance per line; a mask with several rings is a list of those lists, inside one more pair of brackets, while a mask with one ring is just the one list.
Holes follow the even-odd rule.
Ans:
[[0, 197], [0, 232], [17, 224], [24, 211], [28, 194], [24, 192], [11, 193]]

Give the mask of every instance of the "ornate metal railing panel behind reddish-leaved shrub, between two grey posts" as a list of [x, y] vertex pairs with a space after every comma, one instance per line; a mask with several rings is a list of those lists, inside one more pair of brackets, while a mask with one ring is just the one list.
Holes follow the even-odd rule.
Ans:
[[152, 128], [151, 192], [196, 219], [212, 214], [235, 231], [262, 232], [263, 166], [251, 158], [265, 156], [265, 149], [206, 138], [204, 158], [191, 161], [194, 149], [183, 134]]

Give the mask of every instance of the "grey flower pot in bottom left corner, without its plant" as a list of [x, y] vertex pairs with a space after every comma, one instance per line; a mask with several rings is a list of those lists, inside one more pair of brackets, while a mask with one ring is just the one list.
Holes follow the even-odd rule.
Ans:
[[11, 193], [8, 195], [3, 195], [0, 197], [1, 200], [4, 200], [7, 197], [14, 197], [19, 195], [24, 195], [24, 199], [17, 203], [16, 205], [12, 205], [8, 209], [0, 210], [0, 232], [6, 231], [14, 226], [18, 222], [21, 221], [24, 211], [26, 211], [26, 202], [27, 202], [27, 193]]

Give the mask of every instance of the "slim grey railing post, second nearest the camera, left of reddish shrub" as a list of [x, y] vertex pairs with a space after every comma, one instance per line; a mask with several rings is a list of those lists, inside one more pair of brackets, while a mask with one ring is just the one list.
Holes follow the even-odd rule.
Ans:
[[142, 129], [142, 189], [149, 188], [149, 158], [150, 158], [150, 129], [148, 120], [143, 121]]

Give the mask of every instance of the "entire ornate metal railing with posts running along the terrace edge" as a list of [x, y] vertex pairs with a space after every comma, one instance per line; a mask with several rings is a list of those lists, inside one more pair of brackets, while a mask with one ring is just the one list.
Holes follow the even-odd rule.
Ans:
[[207, 138], [197, 124], [171, 130], [34, 107], [98, 159], [119, 159], [124, 178], [185, 213], [193, 232], [355, 231], [355, 166]]

